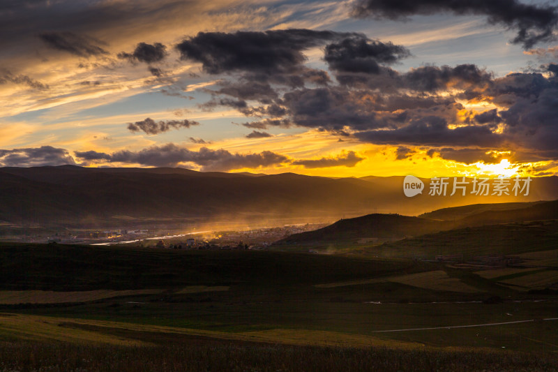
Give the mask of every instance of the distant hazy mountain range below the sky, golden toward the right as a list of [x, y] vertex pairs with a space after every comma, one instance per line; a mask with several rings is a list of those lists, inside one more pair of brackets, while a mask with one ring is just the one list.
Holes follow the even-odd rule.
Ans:
[[211, 221], [265, 225], [276, 221], [335, 221], [374, 211], [415, 215], [481, 202], [558, 198], [558, 177], [534, 179], [527, 197], [407, 198], [402, 180], [196, 172], [183, 168], [0, 168], [0, 221], [66, 227]]

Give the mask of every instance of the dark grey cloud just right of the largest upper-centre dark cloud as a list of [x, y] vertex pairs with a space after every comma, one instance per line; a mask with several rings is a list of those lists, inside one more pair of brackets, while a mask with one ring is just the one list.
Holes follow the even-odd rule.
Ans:
[[324, 60], [339, 72], [379, 73], [380, 64], [393, 64], [409, 55], [401, 45], [352, 37], [326, 45]]

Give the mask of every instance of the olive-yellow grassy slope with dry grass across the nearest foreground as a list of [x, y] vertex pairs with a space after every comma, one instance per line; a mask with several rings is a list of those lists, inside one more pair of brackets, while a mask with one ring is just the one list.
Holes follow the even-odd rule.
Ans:
[[[8, 322], [6, 318], [11, 318]], [[0, 371], [555, 371], [555, 355], [435, 348], [341, 332], [227, 333], [0, 315]], [[476, 330], [475, 332], [478, 332]], [[502, 332], [502, 329], [500, 329]], [[481, 334], [481, 338], [485, 338]], [[413, 336], [404, 336], [403, 338]], [[524, 337], [523, 342], [529, 342]]]

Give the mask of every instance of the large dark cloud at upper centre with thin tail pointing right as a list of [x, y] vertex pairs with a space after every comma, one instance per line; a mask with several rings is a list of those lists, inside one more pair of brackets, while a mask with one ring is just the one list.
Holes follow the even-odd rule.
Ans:
[[[291, 73], [306, 57], [303, 50], [326, 41], [360, 34], [308, 29], [270, 31], [200, 32], [183, 40], [176, 48], [181, 59], [197, 61], [206, 73]], [[363, 36], [361, 36], [363, 37]]]

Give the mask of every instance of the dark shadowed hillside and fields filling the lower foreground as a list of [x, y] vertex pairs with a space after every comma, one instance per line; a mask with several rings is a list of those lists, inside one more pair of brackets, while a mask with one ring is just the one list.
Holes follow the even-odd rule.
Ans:
[[[554, 257], [531, 253], [533, 260]], [[362, 371], [483, 370], [482, 363], [465, 369], [474, 358], [488, 371], [514, 370], [518, 360], [525, 371], [557, 366], [558, 321], [550, 319], [558, 314], [558, 297], [502, 285], [502, 276], [515, 274], [505, 269], [483, 277], [365, 254], [56, 244], [3, 244], [0, 268], [0, 299], [11, 299], [0, 304], [3, 360], [11, 360], [6, 350], [13, 345], [41, 350], [48, 354], [41, 360], [53, 365], [66, 349], [75, 361], [80, 355], [93, 361], [108, 357], [105, 348], [116, 348], [113, 363], [119, 364], [138, 348], [145, 355], [163, 348], [160, 355], [167, 355], [183, 345], [190, 358], [211, 350], [225, 360], [237, 352], [246, 358], [236, 362], [238, 371], [250, 371], [247, 365], [296, 371], [289, 359], [294, 356], [313, 361], [308, 371], [335, 371], [335, 363], [356, 363], [354, 370]], [[261, 366], [260, 355], [278, 364]], [[332, 366], [317, 360], [323, 355]], [[396, 362], [377, 360], [389, 355]], [[357, 356], [368, 362], [358, 364]], [[205, 360], [200, 368], [225, 368], [196, 358]], [[190, 368], [172, 363], [168, 371]]]

